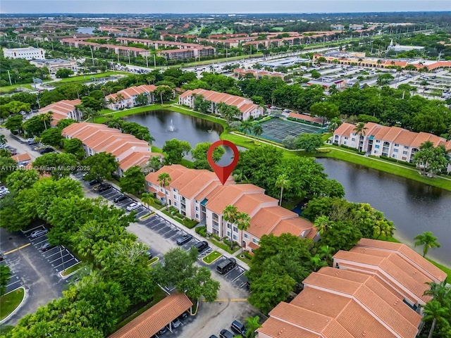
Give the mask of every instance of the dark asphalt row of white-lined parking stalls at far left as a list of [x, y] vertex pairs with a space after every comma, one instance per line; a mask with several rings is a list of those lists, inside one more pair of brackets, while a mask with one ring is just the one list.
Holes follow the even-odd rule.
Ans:
[[[44, 226], [37, 227], [34, 230], [45, 229]], [[42, 250], [42, 246], [47, 243], [47, 234], [39, 236], [37, 238], [32, 238], [32, 232], [27, 232], [27, 239], [30, 241], [32, 246], [41, 253], [42, 256], [49, 262], [52, 268], [56, 270], [57, 273], [70, 268], [71, 266], [80, 262], [80, 260], [73, 255], [64, 246], [54, 246], [47, 250]]]

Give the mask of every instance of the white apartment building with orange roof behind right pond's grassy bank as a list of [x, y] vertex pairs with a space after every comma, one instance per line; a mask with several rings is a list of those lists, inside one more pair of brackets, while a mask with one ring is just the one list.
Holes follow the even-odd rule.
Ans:
[[[373, 156], [387, 156], [412, 163], [421, 144], [430, 141], [434, 146], [451, 149], [451, 141], [428, 132], [410, 132], [400, 127], [386, 127], [378, 123], [365, 124], [365, 134], [358, 135], [355, 125], [343, 123], [333, 133], [333, 144], [344, 144]], [[448, 172], [451, 165], [448, 165]]]

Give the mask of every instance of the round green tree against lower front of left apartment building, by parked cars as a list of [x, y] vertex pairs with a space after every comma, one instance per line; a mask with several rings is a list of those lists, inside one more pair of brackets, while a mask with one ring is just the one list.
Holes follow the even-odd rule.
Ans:
[[119, 163], [111, 154], [105, 152], [88, 156], [82, 161], [82, 166], [89, 168], [85, 180], [111, 180], [111, 175], [119, 168]]

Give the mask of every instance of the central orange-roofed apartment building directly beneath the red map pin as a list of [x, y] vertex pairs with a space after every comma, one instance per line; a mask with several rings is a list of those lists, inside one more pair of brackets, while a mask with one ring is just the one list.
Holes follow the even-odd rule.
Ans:
[[[171, 177], [166, 187], [158, 180], [161, 173]], [[279, 236], [289, 232], [298, 237], [319, 239], [312, 223], [278, 206], [278, 200], [264, 194], [264, 189], [254, 184], [235, 184], [233, 177], [222, 185], [209, 170], [166, 165], [146, 176], [146, 190], [154, 193], [163, 204], [206, 225], [210, 234], [233, 240], [249, 252], [259, 247], [264, 234]], [[242, 234], [237, 225], [223, 219], [223, 210], [230, 205], [251, 218], [249, 228]]]

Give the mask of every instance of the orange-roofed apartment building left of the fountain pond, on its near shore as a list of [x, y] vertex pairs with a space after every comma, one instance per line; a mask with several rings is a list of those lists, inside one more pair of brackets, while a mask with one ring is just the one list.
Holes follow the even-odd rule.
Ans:
[[139, 165], [143, 171], [150, 158], [163, 154], [152, 153], [152, 147], [146, 141], [137, 139], [131, 134], [123, 134], [121, 130], [109, 128], [97, 123], [73, 123], [63, 129], [63, 137], [80, 139], [86, 156], [101, 152], [112, 154], [119, 163], [118, 176], [122, 177], [125, 170]]

